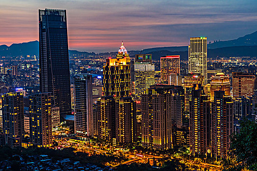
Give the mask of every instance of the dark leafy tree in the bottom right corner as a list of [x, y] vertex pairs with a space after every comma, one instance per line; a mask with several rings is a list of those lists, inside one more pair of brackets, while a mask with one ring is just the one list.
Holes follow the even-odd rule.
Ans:
[[224, 171], [257, 171], [257, 123], [243, 118], [240, 130], [231, 135], [231, 157], [225, 162]]

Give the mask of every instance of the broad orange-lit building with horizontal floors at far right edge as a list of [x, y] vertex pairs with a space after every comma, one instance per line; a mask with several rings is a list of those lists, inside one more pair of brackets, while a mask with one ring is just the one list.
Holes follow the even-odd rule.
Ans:
[[256, 75], [252, 73], [233, 72], [232, 73], [233, 98], [239, 96], [253, 96], [257, 86]]

